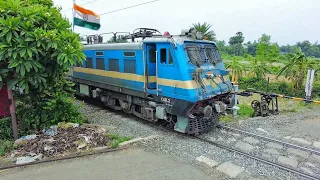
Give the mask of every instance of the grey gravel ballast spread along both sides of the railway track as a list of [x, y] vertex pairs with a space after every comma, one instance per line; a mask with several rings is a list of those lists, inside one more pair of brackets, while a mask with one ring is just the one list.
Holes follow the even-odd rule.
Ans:
[[[79, 101], [78, 101], [79, 102]], [[198, 140], [188, 138], [186, 136], [161, 130], [152, 125], [145, 123], [143, 120], [139, 120], [131, 115], [126, 115], [122, 112], [117, 112], [110, 110], [108, 108], [98, 108], [92, 105], [85, 105], [82, 111], [86, 113], [89, 117], [89, 121], [94, 124], [103, 125], [107, 129], [114, 133], [119, 133], [123, 136], [130, 137], [146, 137], [150, 135], [159, 135], [160, 138], [139, 143], [140, 146], [145, 147], [150, 151], [157, 151], [161, 154], [170, 155], [172, 158], [182, 158], [187, 162], [199, 165], [196, 158], [203, 155], [210, 158], [218, 163], [224, 163], [231, 161], [233, 164], [243, 167], [246, 171], [241, 173], [241, 176], [237, 179], [248, 179], [248, 178], [258, 178], [258, 179], [299, 179], [304, 180], [305, 178], [296, 176], [295, 174], [289, 173], [284, 170], [280, 170], [276, 167], [255, 161], [248, 157], [239, 155], [237, 153], [231, 153], [227, 150], [209, 145], [207, 143], [199, 142]], [[242, 121], [240, 123], [233, 123], [235, 128], [244, 129], [246, 131], [251, 131], [253, 133], [266, 135], [263, 131], [257, 131], [257, 128], [263, 128], [268, 133], [269, 137], [285, 137], [292, 136], [288, 132], [278, 131], [274, 127], [278, 125], [287, 125], [295, 121], [301, 121], [303, 118], [319, 117], [320, 111], [308, 110], [305, 113], [294, 113], [286, 116], [270, 116], [267, 118], [252, 118], [250, 121]], [[298, 137], [304, 137], [303, 133], [296, 133], [296, 135], [301, 135]], [[232, 136], [232, 138], [230, 138]], [[204, 135], [204, 137], [214, 137], [217, 141], [236, 143], [243, 139], [243, 136], [233, 136], [227, 132], [221, 133], [220, 130], [215, 130]], [[222, 141], [223, 139], [223, 141]], [[230, 140], [231, 139], [231, 140]], [[232, 140], [233, 139], [233, 140]], [[236, 141], [235, 141], [235, 140]], [[254, 151], [259, 151], [259, 144], [255, 145]], [[276, 157], [275, 157], [276, 159]], [[318, 166], [318, 165], [317, 165]], [[206, 167], [199, 166], [205, 170]], [[319, 167], [319, 166], [318, 166]], [[316, 168], [317, 170], [317, 168]], [[210, 171], [211, 173], [218, 173], [217, 170]], [[315, 175], [317, 175], [316, 173]], [[222, 178], [223, 179], [223, 178]], [[226, 178], [228, 179], [228, 178]]]

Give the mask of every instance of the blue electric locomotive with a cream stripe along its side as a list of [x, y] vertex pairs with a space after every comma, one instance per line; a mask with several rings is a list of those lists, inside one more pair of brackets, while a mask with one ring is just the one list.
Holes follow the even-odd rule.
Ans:
[[76, 94], [147, 121], [163, 121], [181, 133], [199, 134], [218, 125], [232, 84], [216, 45], [202, 40], [201, 33], [183, 30], [172, 36], [139, 28], [124, 36], [129, 43], [94, 37], [84, 45], [86, 59], [72, 67]]

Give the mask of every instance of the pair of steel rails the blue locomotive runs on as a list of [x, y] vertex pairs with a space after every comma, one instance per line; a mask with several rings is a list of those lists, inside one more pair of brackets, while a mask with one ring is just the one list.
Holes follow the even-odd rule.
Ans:
[[[100, 105], [95, 105], [95, 106], [99, 106], [100, 108], [102, 108]], [[120, 112], [120, 114], [122, 114], [122, 115], [124, 115], [126, 117], [130, 116], [130, 115], [122, 113], [122, 112]], [[133, 117], [133, 118], [136, 119], [136, 117]], [[176, 131], [172, 131], [171, 129], [168, 129], [165, 126], [159, 126], [158, 124], [150, 123], [150, 122], [147, 122], [147, 121], [142, 121], [142, 122], [144, 122], [144, 123], [146, 123], [148, 125], [151, 125], [154, 128], [161, 129], [162, 131], [164, 130], [164, 131], [167, 131], [167, 132], [175, 133], [175, 134], [178, 134], [180, 136], [188, 136], [191, 139], [196, 139], [196, 140], [198, 140], [200, 142], [208, 143], [210, 145], [219, 147], [221, 149], [225, 149], [225, 150], [230, 151], [230, 152], [235, 152], [235, 153], [237, 153], [239, 155], [243, 155], [245, 157], [254, 159], [256, 161], [268, 164], [270, 166], [277, 167], [277, 168], [279, 168], [281, 170], [285, 170], [285, 171], [291, 172], [293, 174], [299, 175], [299, 176], [307, 178], [307, 179], [320, 180], [320, 177], [316, 177], [314, 175], [307, 174], [307, 173], [305, 173], [303, 171], [299, 171], [299, 170], [297, 170], [295, 168], [291, 168], [291, 167], [288, 167], [288, 166], [285, 166], [285, 165], [282, 165], [282, 164], [279, 164], [279, 163], [276, 163], [276, 162], [272, 162], [270, 160], [258, 157], [256, 155], [253, 155], [253, 154], [250, 154], [250, 153], [247, 153], [247, 152], [244, 152], [242, 150], [235, 149], [233, 147], [230, 147], [230, 146], [227, 146], [227, 145], [223, 145], [221, 143], [217, 143], [217, 142], [209, 140], [207, 138], [203, 138], [203, 137], [200, 137], [200, 136], [185, 135], [185, 134], [181, 134], [181, 133], [176, 132]], [[294, 144], [287, 143], [287, 142], [284, 142], [284, 141], [280, 141], [280, 140], [276, 140], [276, 139], [271, 139], [271, 138], [268, 138], [268, 137], [260, 136], [260, 135], [257, 135], [257, 134], [253, 134], [253, 133], [250, 133], [250, 132], [246, 132], [246, 131], [240, 130], [240, 129], [235, 129], [235, 128], [231, 128], [231, 127], [223, 126], [223, 125], [219, 125], [218, 128], [225, 129], [225, 130], [228, 130], [228, 131], [242, 133], [242, 134], [245, 134], [245, 135], [248, 135], [248, 136], [251, 136], [251, 137], [257, 137], [257, 138], [260, 138], [260, 139], [263, 139], [263, 140], [266, 140], [266, 141], [269, 141], [269, 142], [276, 142], [276, 143], [282, 144], [282, 145], [287, 146], [287, 147], [292, 147], [292, 148], [304, 150], [304, 151], [311, 152], [311, 153], [314, 153], [314, 154], [320, 154], [319, 151], [316, 151], [316, 150], [313, 150], [313, 149], [309, 149], [309, 148], [306, 148], [306, 147], [294, 145]]]

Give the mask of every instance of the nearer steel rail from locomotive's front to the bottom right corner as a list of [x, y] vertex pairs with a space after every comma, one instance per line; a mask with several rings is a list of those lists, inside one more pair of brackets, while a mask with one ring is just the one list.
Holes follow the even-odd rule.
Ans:
[[231, 152], [236, 152], [236, 153], [238, 153], [238, 154], [244, 155], [244, 156], [249, 157], [249, 158], [251, 158], [251, 159], [254, 159], [254, 160], [263, 162], [263, 163], [265, 163], [265, 164], [269, 164], [269, 165], [271, 165], [271, 166], [275, 166], [275, 167], [277, 167], [277, 168], [279, 168], [279, 169], [282, 169], [282, 170], [285, 170], [285, 171], [288, 171], [288, 172], [291, 172], [291, 173], [300, 175], [300, 176], [302, 176], [302, 177], [305, 177], [305, 178], [308, 178], [308, 179], [312, 179], [312, 180], [320, 180], [320, 178], [318, 178], [318, 177], [316, 177], [316, 176], [313, 176], [313, 175], [310, 175], [310, 174], [306, 174], [306, 173], [304, 173], [304, 172], [295, 170], [295, 169], [293, 169], [293, 168], [286, 167], [286, 166], [281, 165], [281, 164], [278, 164], [278, 163], [274, 163], [274, 162], [272, 162], [272, 161], [269, 161], [269, 160], [266, 160], [266, 159], [263, 159], [263, 158], [260, 158], [260, 157], [251, 155], [251, 154], [249, 154], [249, 153], [246, 153], [246, 152], [243, 152], [243, 151], [240, 151], [240, 150], [237, 150], [237, 149], [234, 149], [234, 148], [231, 148], [231, 147], [228, 147], [228, 146], [225, 146], [225, 145], [222, 145], [222, 144], [219, 144], [219, 143], [210, 141], [210, 140], [208, 140], [208, 139], [204, 139], [204, 138], [197, 137], [197, 136], [191, 136], [191, 137], [194, 138], [194, 139], [198, 139], [198, 140], [200, 140], [200, 141], [202, 141], [202, 142], [206, 142], [206, 143], [212, 144], [212, 145], [217, 146], [217, 147], [219, 147], [219, 148], [222, 148], [222, 149], [225, 149], [225, 150], [228, 150], [228, 151], [231, 151]]

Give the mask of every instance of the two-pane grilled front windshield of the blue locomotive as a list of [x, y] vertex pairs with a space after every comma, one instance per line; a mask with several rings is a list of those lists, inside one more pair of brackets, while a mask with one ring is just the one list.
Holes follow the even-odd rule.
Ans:
[[222, 61], [218, 48], [212, 44], [186, 44], [185, 49], [190, 62], [194, 65], [200, 66], [207, 61], [213, 65], [216, 65]]

